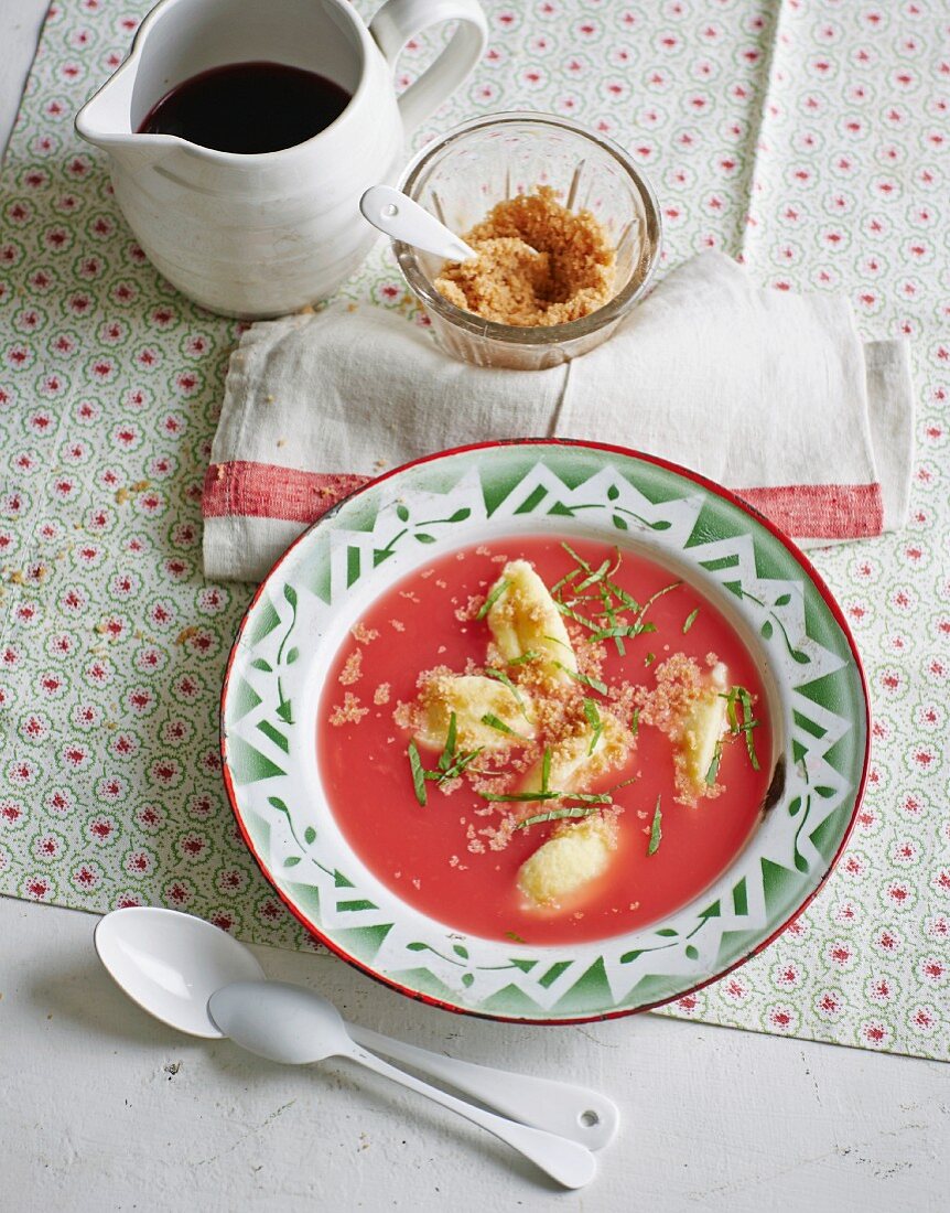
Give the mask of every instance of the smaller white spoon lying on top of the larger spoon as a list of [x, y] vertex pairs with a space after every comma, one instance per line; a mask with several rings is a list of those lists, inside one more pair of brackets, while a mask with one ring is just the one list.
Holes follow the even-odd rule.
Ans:
[[[596, 1173], [597, 1164], [586, 1146], [482, 1111], [361, 1048], [337, 1008], [303, 986], [235, 981], [211, 996], [208, 1014], [225, 1036], [271, 1061], [307, 1065], [330, 1057], [357, 1061], [493, 1133], [565, 1188], [583, 1188]], [[276, 1024], [280, 1031], [275, 1031]]]

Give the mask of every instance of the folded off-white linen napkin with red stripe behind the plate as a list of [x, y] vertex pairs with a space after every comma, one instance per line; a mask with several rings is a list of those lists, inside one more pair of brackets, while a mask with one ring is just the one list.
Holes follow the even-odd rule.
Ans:
[[384, 468], [500, 438], [608, 442], [739, 492], [802, 545], [899, 529], [909, 347], [862, 343], [847, 300], [756, 286], [721, 254], [673, 270], [584, 358], [475, 368], [371, 306], [253, 325], [231, 355], [205, 478], [205, 574], [261, 580]]

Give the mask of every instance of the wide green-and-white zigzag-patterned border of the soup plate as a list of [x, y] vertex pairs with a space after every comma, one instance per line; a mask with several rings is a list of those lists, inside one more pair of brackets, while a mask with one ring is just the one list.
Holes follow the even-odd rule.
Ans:
[[[577, 949], [453, 945], [458, 936], [436, 923], [402, 921], [378, 887], [367, 888], [353, 858], [334, 849], [332, 824], [313, 816], [313, 796], [301, 793], [313, 716], [302, 717], [298, 705], [319, 638], [339, 611], [351, 622], [366, 594], [437, 551], [488, 533], [530, 533], [551, 517], [559, 529], [595, 528], [648, 545], [733, 600], [782, 672], [785, 792], [731, 879], [657, 929]], [[345, 503], [293, 549], [251, 613], [225, 710], [239, 808], [285, 896], [394, 983], [467, 1009], [531, 1018], [670, 1000], [748, 956], [801, 904], [837, 850], [860, 774], [863, 729], [846, 639], [783, 545], [731, 502], [666, 468], [576, 445], [459, 452]]]

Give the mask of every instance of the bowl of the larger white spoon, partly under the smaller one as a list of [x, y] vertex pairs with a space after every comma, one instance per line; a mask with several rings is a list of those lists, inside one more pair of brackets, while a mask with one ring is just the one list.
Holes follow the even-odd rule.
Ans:
[[101, 918], [96, 951], [113, 979], [155, 1019], [179, 1032], [224, 1035], [208, 1015], [208, 998], [233, 981], [263, 981], [244, 944], [176, 910], [131, 906]]

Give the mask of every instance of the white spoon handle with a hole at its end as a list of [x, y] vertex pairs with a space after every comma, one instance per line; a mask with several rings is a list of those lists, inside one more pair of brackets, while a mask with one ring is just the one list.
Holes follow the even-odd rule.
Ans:
[[447, 1082], [503, 1116], [579, 1141], [588, 1150], [603, 1149], [617, 1133], [617, 1105], [596, 1090], [442, 1057], [356, 1024], [347, 1024], [347, 1031], [364, 1048]]

